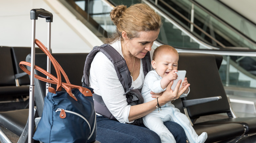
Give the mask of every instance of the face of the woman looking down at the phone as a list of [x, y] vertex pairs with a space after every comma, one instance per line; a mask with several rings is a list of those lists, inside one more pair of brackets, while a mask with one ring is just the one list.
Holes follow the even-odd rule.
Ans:
[[145, 57], [148, 51], [151, 51], [151, 47], [155, 40], [157, 40], [160, 29], [157, 31], [141, 31], [138, 38], [125, 40], [125, 49], [127, 49], [132, 56], [137, 58]]

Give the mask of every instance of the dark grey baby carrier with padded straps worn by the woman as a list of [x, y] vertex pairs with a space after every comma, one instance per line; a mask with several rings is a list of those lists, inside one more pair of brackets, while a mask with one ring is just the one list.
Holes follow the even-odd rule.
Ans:
[[[115, 70], [117, 72], [119, 81], [121, 82], [124, 88], [125, 93], [123, 95], [126, 96], [128, 105], [137, 105], [137, 104], [143, 103], [144, 100], [140, 93], [141, 89], [133, 89], [133, 87], [131, 87], [132, 77], [130, 76], [130, 71], [128, 69], [126, 61], [117, 52], [117, 50], [114, 49], [109, 44], [103, 44], [101, 46], [94, 47], [93, 50], [86, 57], [85, 66], [84, 66], [84, 75], [83, 75], [84, 77], [83, 86], [88, 86], [88, 87], [90, 86], [89, 74], [90, 74], [91, 63], [98, 51], [102, 52], [113, 63]], [[142, 59], [142, 65], [143, 65], [143, 73], [146, 76], [148, 71], [150, 71], [150, 53], [149, 52], [147, 52], [146, 56]], [[94, 98], [94, 108], [96, 113], [101, 114], [102, 116], [108, 119], [117, 120], [110, 113], [110, 111], [108, 110], [106, 104], [104, 103], [100, 95], [93, 93], [93, 98]], [[142, 118], [135, 120], [131, 124], [139, 125], [140, 123], [142, 123]]]

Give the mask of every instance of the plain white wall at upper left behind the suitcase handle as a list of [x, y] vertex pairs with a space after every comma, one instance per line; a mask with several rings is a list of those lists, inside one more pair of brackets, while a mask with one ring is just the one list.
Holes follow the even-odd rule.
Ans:
[[[88, 53], [93, 46], [102, 43], [58, 0], [5, 0], [0, 2], [0, 46], [31, 47], [30, 10], [33, 8], [44, 8], [53, 13], [53, 23], [51, 24], [53, 53]], [[46, 47], [47, 30], [48, 23], [45, 19], [38, 18], [35, 38]]]

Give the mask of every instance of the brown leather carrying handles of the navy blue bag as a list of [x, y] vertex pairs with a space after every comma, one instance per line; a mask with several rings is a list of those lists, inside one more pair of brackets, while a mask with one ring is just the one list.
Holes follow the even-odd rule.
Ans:
[[[35, 75], [35, 78], [39, 79], [39, 80], [42, 80], [42, 81], [45, 81], [45, 82], [48, 82], [48, 83], [52, 83], [52, 84], [57, 84], [57, 90], [56, 91], [60, 91], [61, 90], [61, 87], [63, 87], [68, 93], [69, 95], [74, 98], [76, 101], [77, 99], [75, 98], [74, 94], [71, 92], [71, 88], [77, 88], [79, 89], [79, 91], [84, 94], [85, 96], [92, 96], [92, 93], [89, 89], [85, 88], [85, 87], [81, 87], [81, 86], [76, 86], [76, 85], [72, 85], [68, 79], [68, 76], [67, 74], [65, 73], [65, 71], [62, 69], [62, 67], [59, 65], [59, 63], [56, 61], [56, 59], [51, 55], [51, 53], [47, 50], [47, 48], [37, 39], [35, 39], [35, 43], [36, 45], [49, 57], [49, 59], [51, 60], [51, 62], [53, 63], [53, 66], [55, 68], [55, 71], [57, 73], [57, 78], [55, 76], [53, 76], [52, 74], [50, 74], [49, 72], [43, 70], [42, 68], [38, 67], [35, 65], [35, 69], [42, 72], [43, 74], [45, 74], [46, 76], [50, 77], [51, 79], [53, 80], [50, 80], [50, 79], [47, 79], [47, 78], [44, 78], [44, 77], [41, 77], [41, 76], [38, 76], [38, 75]], [[31, 74], [31, 72], [24, 67], [24, 65], [27, 65], [27, 66], [31, 66], [31, 63], [28, 63], [28, 62], [25, 62], [25, 61], [22, 61], [20, 62], [19, 66], [20, 68], [28, 73], [29, 75]], [[67, 83], [63, 83], [61, 82], [61, 75], [60, 75], [60, 72], [63, 74], [65, 80]]]

